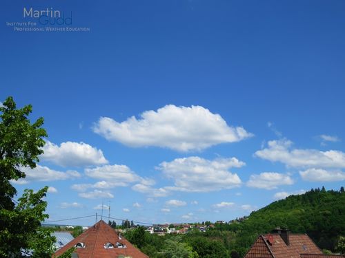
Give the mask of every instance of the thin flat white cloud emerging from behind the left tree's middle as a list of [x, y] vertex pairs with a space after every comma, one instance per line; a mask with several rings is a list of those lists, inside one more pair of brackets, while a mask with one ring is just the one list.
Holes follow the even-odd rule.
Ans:
[[77, 171], [56, 171], [48, 168], [48, 166], [37, 165], [34, 169], [30, 167], [22, 167], [21, 171], [26, 173], [26, 178], [21, 178], [17, 181], [11, 180], [14, 184], [28, 184], [29, 182], [40, 181], [57, 181], [68, 180], [72, 178], [80, 178], [80, 174]]

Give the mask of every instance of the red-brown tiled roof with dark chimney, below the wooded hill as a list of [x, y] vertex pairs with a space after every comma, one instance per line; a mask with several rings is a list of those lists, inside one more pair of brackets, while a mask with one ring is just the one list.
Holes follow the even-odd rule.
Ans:
[[272, 234], [260, 235], [244, 258], [345, 258], [324, 255], [306, 234], [292, 234], [277, 228]]

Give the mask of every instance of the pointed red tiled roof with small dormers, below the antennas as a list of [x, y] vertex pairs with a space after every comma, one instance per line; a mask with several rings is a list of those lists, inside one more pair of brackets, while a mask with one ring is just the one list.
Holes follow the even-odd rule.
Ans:
[[[116, 244], [118, 242], [126, 245], [126, 248], [117, 248]], [[75, 250], [79, 258], [117, 258], [119, 255], [132, 258], [148, 258], [147, 255], [132, 246], [124, 237], [121, 236], [121, 239], [119, 239], [119, 235], [115, 233], [115, 230], [106, 222], [103, 222], [103, 220], [97, 222], [94, 226], [66, 244], [66, 246], [63, 246], [63, 248], [55, 252], [55, 255], [59, 257], [63, 252], [66, 252], [78, 243], [85, 244], [85, 248], [76, 248]], [[106, 243], [113, 244], [115, 248], [104, 248]]]

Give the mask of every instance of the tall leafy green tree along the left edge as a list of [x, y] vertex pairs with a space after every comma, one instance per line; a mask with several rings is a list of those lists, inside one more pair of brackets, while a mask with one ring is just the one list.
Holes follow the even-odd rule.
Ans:
[[27, 189], [19, 202], [13, 199], [17, 190], [11, 180], [26, 177], [23, 167], [36, 166], [47, 136], [41, 128], [43, 118], [30, 123], [31, 111], [31, 105], [17, 109], [11, 97], [0, 107], [0, 257], [19, 255], [21, 250], [33, 250], [33, 257], [50, 257], [53, 251], [54, 237], [40, 228], [48, 218], [42, 200], [48, 187], [37, 193]]

